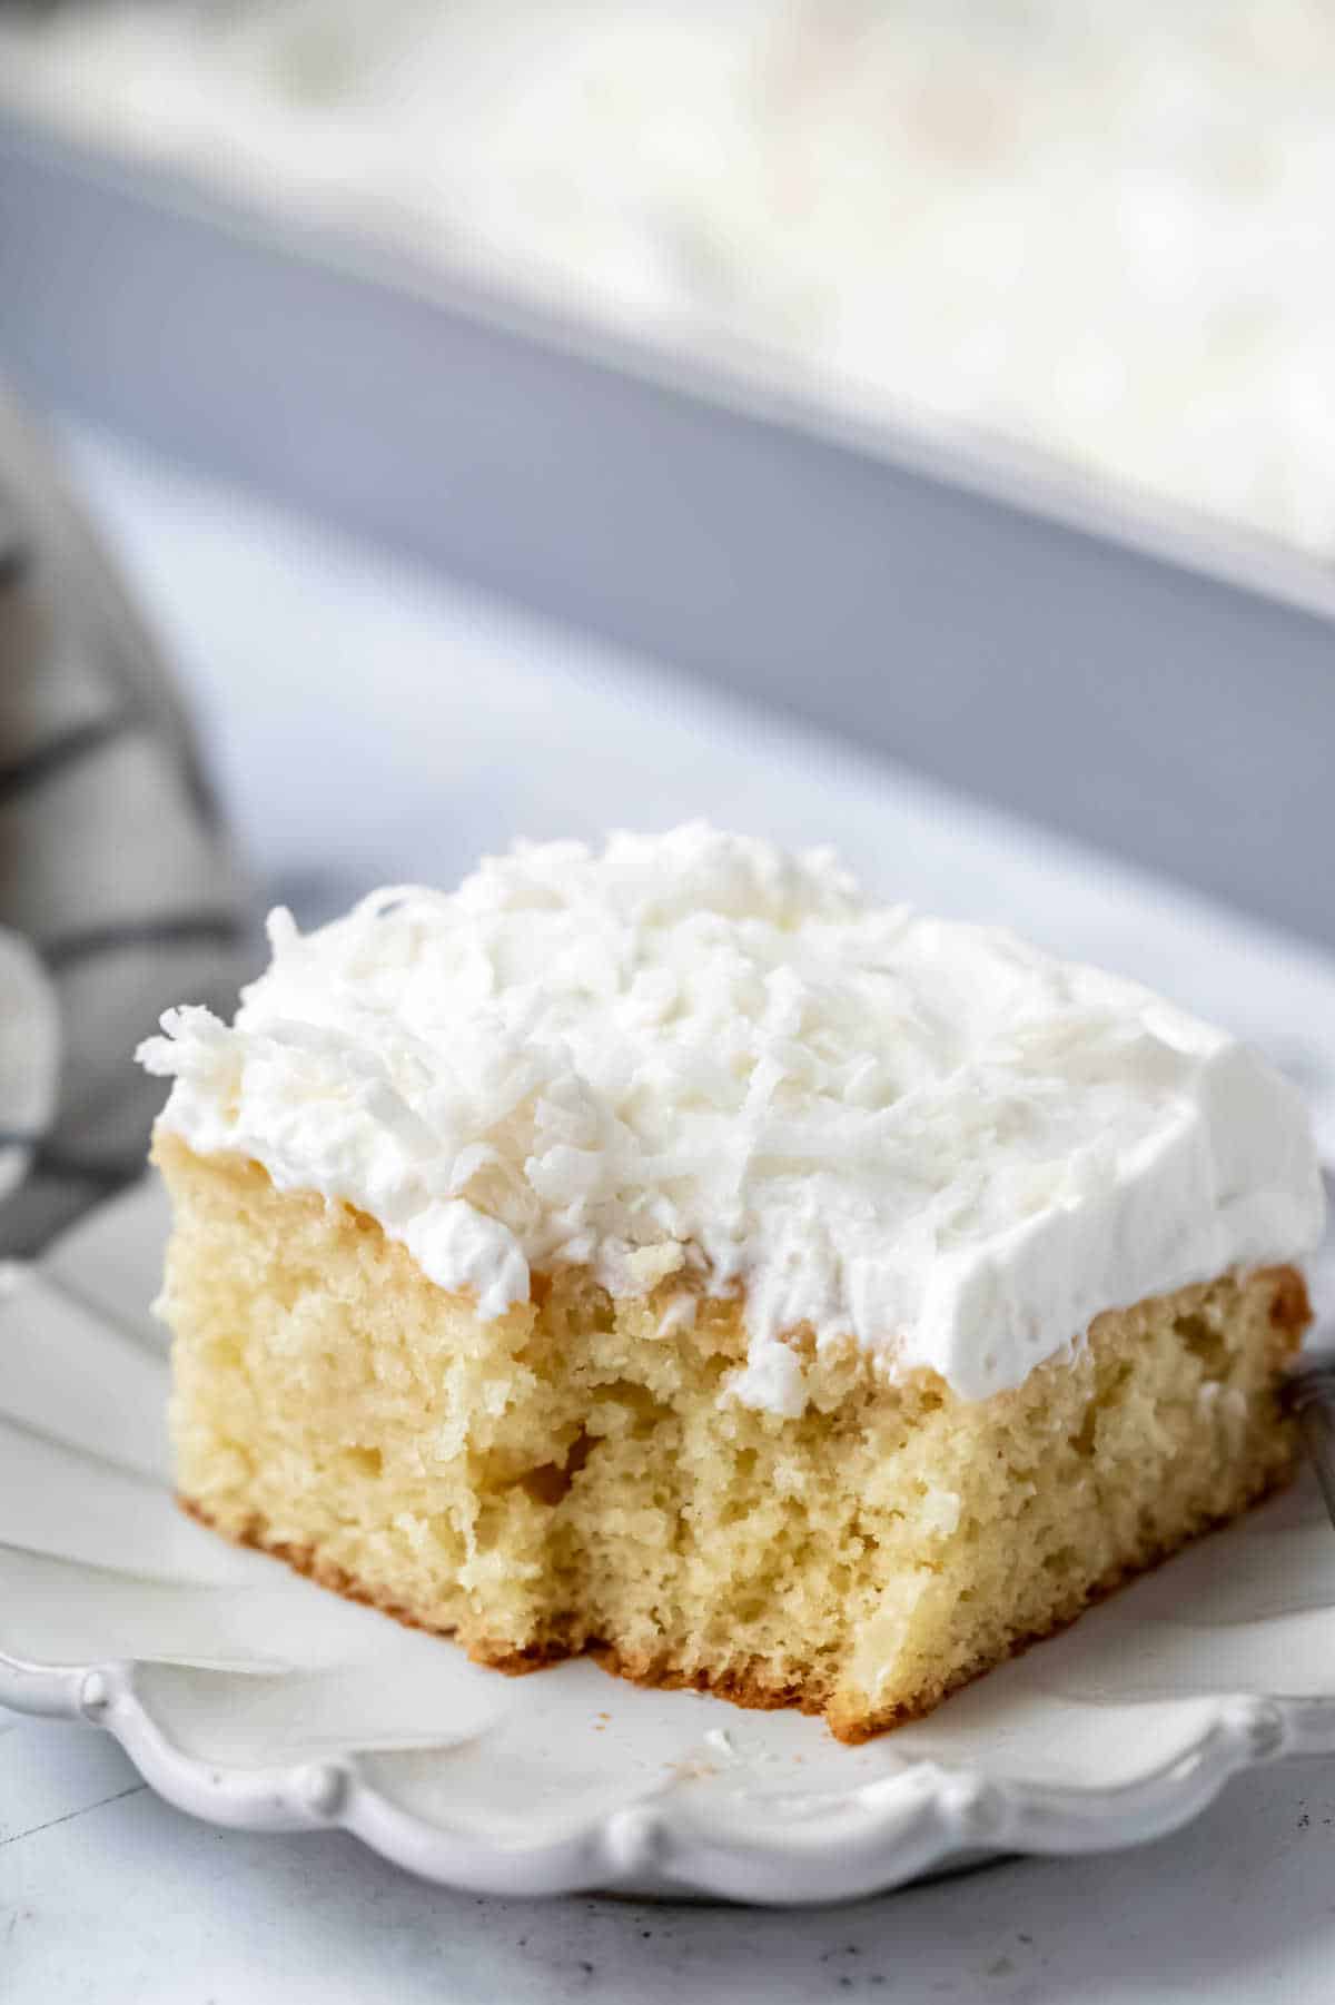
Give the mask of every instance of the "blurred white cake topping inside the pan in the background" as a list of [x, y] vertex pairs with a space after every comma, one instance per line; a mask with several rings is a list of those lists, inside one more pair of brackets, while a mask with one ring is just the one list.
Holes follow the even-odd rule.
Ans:
[[261, 211], [1335, 557], [1323, 0], [46, 0], [0, 82]]

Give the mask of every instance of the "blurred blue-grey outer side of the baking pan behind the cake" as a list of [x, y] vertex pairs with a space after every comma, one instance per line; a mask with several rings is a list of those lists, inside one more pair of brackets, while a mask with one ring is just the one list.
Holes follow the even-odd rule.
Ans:
[[0, 365], [214, 477], [1335, 940], [1335, 577], [1311, 559], [12, 120]]

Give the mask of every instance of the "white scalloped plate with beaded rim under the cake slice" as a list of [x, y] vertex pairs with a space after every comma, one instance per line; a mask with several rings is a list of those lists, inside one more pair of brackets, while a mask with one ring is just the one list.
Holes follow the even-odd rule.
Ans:
[[1311, 1482], [864, 1748], [587, 1662], [477, 1670], [174, 1510], [162, 1235], [144, 1185], [4, 1271], [0, 1702], [108, 1728], [196, 1817], [339, 1825], [479, 1893], [836, 1901], [1133, 1845], [1241, 1768], [1335, 1750]]

